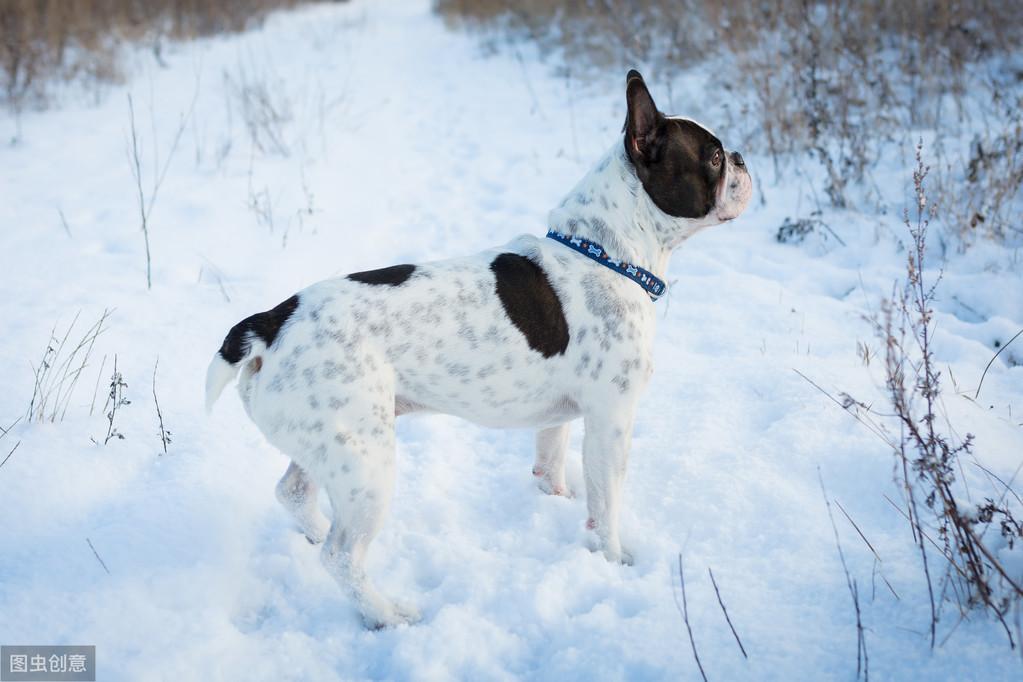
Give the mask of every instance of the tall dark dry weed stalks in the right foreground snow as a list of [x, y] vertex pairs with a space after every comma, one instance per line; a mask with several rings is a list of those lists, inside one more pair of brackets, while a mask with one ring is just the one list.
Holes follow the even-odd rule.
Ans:
[[[914, 171], [916, 220], [905, 212], [910, 236], [906, 278], [885, 302], [876, 332], [885, 345], [885, 388], [891, 413], [898, 425], [893, 439], [896, 482], [903, 492], [904, 515], [921, 552], [931, 598], [931, 646], [941, 609], [936, 602], [950, 601], [967, 618], [974, 608], [994, 616], [1015, 647], [1007, 619], [1023, 603], [1023, 587], [1010, 566], [1005, 567], [995, 551], [999, 543], [1010, 548], [1023, 540], [1021, 511], [1009, 484], [991, 481], [992, 490], [982, 502], [971, 499], [960, 479], [963, 460], [974, 458], [974, 438], [954, 438], [942, 430], [938, 418], [941, 370], [933, 356], [935, 290], [940, 276], [925, 281], [928, 227], [932, 209], [925, 191], [929, 169], [917, 147]], [[894, 431], [894, 429], [893, 429]], [[986, 539], [989, 530], [996, 540]], [[937, 538], [932, 540], [931, 538]], [[933, 543], [945, 563], [936, 581], [928, 562], [928, 543]]]

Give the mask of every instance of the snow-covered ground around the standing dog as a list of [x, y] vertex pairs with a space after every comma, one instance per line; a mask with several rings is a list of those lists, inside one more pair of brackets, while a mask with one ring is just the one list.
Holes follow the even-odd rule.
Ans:
[[[710, 679], [852, 679], [855, 616], [819, 471], [881, 557], [836, 509], [871, 673], [1019, 679], [1018, 652], [980, 613], [931, 650], [920, 557], [884, 498], [898, 499], [892, 455], [793, 371], [878, 400], [881, 363], [864, 364], [857, 343], [879, 349], [862, 316], [903, 274], [909, 147], [878, 171], [889, 215], [827, 216], [845, 246], [777, 243], [783, 220], [812, 207], [809, 178], [775, 179], [747, 154], [754, 204], [675, 255], [625, 489], [634, 565], [587, 549], [581, 497], [535, 488], [531, 434], [405, 418], [398, 494], [369, 566], [424, 620], [361, 627], [274, 500], [285, 458], [233, 395], [204, 413], [206, 365], [232, 324], [315, 280], [545, 230], [546, 212], [615, 143], [624, 74], [581, 83], [525, 47], [517, 57], [479, 45], [427, 2], [313, 6], [172, 46], [167, 67], [133, 53], [128, 83], [98, 102], [65, 93], [24, 116], [16, 142], [0, 147], [4, 428], [27, 411], [54, 323], [61, 331], [81, 312], [77, 340], [114, 312], [65, 417], [23, 419], [0, 440], [0, 460], [20, 442], [0, 467], [0, 642], [95, 644], [104, 680], [698, 679], [681, 554]], [[669, 108], [668, 75], [646, 76]], [[705, 120], [729, 145], [715, 110], [699, 108], [707, 77], [676, 75], [672, 112]], [[262, 149], [244, 92], [280, 119], [254, 124]], [[149, 216], [151, 290], [128, 93], [147, 195], [170, 160]], [[17, 132], [0, 121], [2, 139]], [[1023, 326], [1021, 272], [1009, 248], [955, 256], [936, 315], [936, 357], [954, 377], [942, 413], [977, 435], [978, 461], [1007, 481], [1023, 452], [1023, 349], [994, 362], [979, 401], [964, 396], [995, 342]], [[116, 417], [124, 439], [104, 446], [115, 355], [131, 403]], [[580, 441], [576, 428], [577, 491]], [[992, 494], [979, 468], [964, 475], [977, 500]], [[958, 620], [950, 608], [939, 642]]]

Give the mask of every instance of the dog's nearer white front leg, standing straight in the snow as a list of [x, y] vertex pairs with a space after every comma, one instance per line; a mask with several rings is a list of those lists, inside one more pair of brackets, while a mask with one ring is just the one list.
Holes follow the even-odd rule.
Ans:
[[582, 443], [583, 478], [586, 480], [586, 528], [601, 540], [609, 561], [632, 563], [618, 537], [622, 482], [632, 444], [633, 406], [609, 413], [587, 414]]

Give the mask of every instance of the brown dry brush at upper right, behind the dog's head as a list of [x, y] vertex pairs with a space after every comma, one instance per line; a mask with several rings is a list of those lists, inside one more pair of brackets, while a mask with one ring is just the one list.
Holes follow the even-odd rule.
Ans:
[[[944, 213], [943, 227], [961, 245], [976, 236], [1020, 237], [1023, 153], [1013, 145], [1018, 116], [1006, 110], [1019, 110], [1010, 93], [1023, 89], [1023, 73], [1003, 57], [1023, 39], [1023, 3], [437, 0], [436, 7], [492, 47], [530, 40], [577, 75], [620, 75], [637, 64], [667, 74], [712, 62], [727, 90], [718, 126], [737, 146], [768, 154], [775, 178], [791, 164], [818, 166], [837, 208], [883, 202], [872, 170], [893, 143], [913, 144], [907, 131], [940, 137], [983, 127], [976, 163], [944, 160], [948, 181], [938, 199], [967, 208]], [[988, 101], [990, 110], [971, 120], [971, 104]]]

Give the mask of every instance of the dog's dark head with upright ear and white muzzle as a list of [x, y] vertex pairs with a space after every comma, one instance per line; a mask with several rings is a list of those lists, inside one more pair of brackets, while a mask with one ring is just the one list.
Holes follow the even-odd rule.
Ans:
[[695, 121], [661, 113], [639, 72], [626, 77], [625, 97], [625, 153], [658, 209], [701, 227], [743, 213], [753, 181], [738, 151]]

